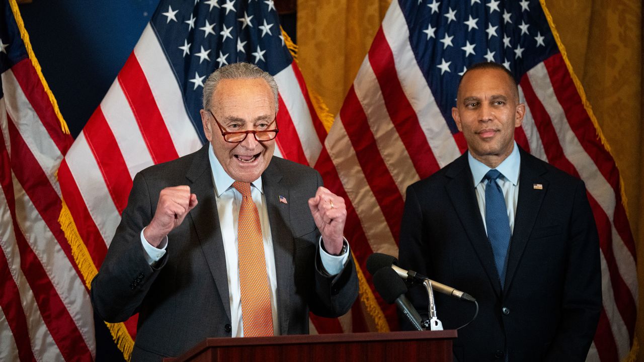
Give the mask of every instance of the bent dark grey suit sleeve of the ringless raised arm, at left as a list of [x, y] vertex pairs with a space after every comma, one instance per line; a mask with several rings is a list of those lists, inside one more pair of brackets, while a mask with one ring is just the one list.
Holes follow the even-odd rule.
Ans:
[[137, 174], [108, 254], [91, 281], [91, 303], [100, 318], [110, 323], [125, 321], [137, 312], [167, 260], [166, 255], [153, 268], [144, 256], [140, 233], [152, 219], [151, 203], [146, 180]]

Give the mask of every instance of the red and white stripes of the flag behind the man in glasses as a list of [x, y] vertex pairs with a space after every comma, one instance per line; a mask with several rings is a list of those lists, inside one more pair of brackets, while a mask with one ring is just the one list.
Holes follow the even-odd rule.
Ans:
[[[301, 73], [292, 63], [275, 79], [280, 103], [275, 154], [314, 165], [326, 131]], [[58, 173], [62, 196], [97, 269], [126, 207], [134, 175], [201, 146], [175, 75], [148, 24]], [[313, 322], [318, 330], [327, 331], [329, 322], [316, 318]], [[342, 331], [337, 321], [330, 323], [332, 331]], [[131, 325], [128, 331], [135, 336]]]

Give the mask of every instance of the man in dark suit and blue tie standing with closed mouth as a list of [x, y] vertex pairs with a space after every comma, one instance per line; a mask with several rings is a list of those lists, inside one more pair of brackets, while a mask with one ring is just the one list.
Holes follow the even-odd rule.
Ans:
[[[598, 235], [583, 182], [514, 141], [525, 114], [503, 66], [462, 77], [452, 115], [468, 152], [408, 187], [400, 263], [468, 292], [480, 311], [459, 330], [465, 361], [583, 361], [601, 310]], [[413, 289], [419, 310], [427, 294]], [[445, 329], [474, 313], [436, 295]]]

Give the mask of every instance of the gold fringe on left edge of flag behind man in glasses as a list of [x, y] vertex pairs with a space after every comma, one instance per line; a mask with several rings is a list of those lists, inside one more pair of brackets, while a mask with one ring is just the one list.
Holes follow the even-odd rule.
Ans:
[[[91, 280], [94, 279], [99, 271], [96, 269], [93, 260], [91, 260], [90, 251], [88, 251], [85, 243], [82, 242], [81, 234], [79, 234], [76, 224], [71, 217], [69, 207], [62, 198], [61, 201], [62, 209], [58, 222], [61, 224], [61, 229], [65, 234], [65, 238], [67, 238], [67, 242], [70, 243], [71, 256], [73, 256], [76, 265], [79, 267], [79, 271], [81, 271], [85, 285], [88, 289], [91, 289]], [[118, 349], [123, 353], [123, 357], [126, 361], [129, 361], [132, 348], [134, 348], [134, 340], [129, 335], [128, 329], [124, 323], [105, 322], [105, 324], [108, 326], [109, 333], [112, 335]]]

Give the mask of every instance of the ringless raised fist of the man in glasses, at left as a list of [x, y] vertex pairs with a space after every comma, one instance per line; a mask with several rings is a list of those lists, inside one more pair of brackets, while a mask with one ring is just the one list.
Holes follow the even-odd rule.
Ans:
[[175, 227], [181, 225], [185, 215], [197, 205], [197, 195], [190, 193], [190, 186], [166, 187], [159, 193], [155, 216], [143, 231], [143, 236], [153, 247]]

